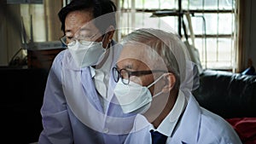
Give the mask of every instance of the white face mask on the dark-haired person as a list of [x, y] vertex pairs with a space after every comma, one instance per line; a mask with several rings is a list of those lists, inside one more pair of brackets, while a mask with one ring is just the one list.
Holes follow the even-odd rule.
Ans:
[[73, 46], [67, 45], [75, 63], [81, 68], [96, 65], [106, 51], [102, 47], [102, 42], [83, 41], [82, 43], [77, 41]]

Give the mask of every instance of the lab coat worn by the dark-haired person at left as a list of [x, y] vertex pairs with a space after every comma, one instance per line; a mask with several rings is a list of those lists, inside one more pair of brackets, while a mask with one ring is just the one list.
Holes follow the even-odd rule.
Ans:
[[[109, 56], [115, 65], [120, 47]], [[108, 67], [112, 73], [111, 68]], [[114, 81], [110, 78], [109, 91]], [[90, 67], [75, 66], [68, 50], [56, 56], [49, 72], [41, 108], [44, 130], [39, 144], [120, 144], [132, 128], [134, 115], [123, 113], [112, 94], [104, 111]], [[125, 124], [125, 125], [124, 125]]]

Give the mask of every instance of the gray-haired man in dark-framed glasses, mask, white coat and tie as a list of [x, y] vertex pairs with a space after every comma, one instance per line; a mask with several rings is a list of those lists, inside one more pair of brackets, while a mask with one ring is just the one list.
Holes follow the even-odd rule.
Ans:
[[125, 144], [241, 144], [230, 124], [191, 94], [191, 63], [177, 35], [138, 29], [122, 43], [113, 92], [125, 113], [138, 113]]

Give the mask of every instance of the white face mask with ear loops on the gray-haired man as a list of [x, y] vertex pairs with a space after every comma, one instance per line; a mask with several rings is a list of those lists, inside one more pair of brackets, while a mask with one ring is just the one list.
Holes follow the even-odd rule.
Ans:
[[[160, 78], [162, 77], [163, 75], [160, 76]], [[116, 95], [117, 100], [119, 101], [119, 105], [123, 109], [123, 112], [147, 112], [151, 105], [152, 99], [162, 93], [162, 91], [160, 91], [158, 94], [152, 96], [148, 88], [157, 83], [160, 78], [156, 79], [152, 84], [149, 84], [148, 87], [136, 84], [132, 81], [126, 85], [123, 84], [121, 78], [119, 78], [119, 82], [113, 89], [113, 93]]]

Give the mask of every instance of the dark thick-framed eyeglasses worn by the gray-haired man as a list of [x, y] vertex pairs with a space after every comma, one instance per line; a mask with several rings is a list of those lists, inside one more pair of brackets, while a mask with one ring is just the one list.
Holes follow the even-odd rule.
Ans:
[[[163, 70], [151, 70], [151, 71], [129, 71], [126, 69], [120, 69], [118, 70], [117, 67], [113, 67], [112, 69], [113, 72], [113, 80], [117, 83], [119, 81], [119, 78], [122, 79], [122, 83], [123, 84], [129, 84], [130, 83], [130, 77], [131, 76], [143, 76], [143, 75], [148, 75], [148, 74], [152, 74], [154, 72], [166, 72]], [[124, 80], [125, 79], [125, 80]]]

